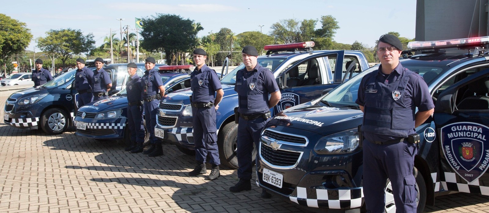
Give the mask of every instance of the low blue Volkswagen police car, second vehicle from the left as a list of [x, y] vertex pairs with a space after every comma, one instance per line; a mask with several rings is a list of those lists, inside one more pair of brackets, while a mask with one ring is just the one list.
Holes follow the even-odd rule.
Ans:
[[[159, 67], [161, 80], [165, 86], [165, 93], [190, 87], [189, 73], [193, 67], [192, 65]], [[138, 69], [138, 76], [142, 76], [142, 72], [139, 73], [139, 71], [141, 70]], [[131, 133], [129, 128], [127, 128], [127, 107], [126, 89], [122, 89], [122, 91], [109, 98], [80, 107], [74, 120], [76, 126], [75, 135], [96, 140], [122, 140], [130, 145]], [[146, 134], [145, 142], [148, 141], [149, 135]]]

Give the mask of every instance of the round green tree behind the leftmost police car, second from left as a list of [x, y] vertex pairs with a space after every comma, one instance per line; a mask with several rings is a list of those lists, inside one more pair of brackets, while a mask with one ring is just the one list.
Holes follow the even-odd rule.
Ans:
[[65, 67], [68, 58], [80, 53], [88, 53], [94, 48], [93, 34], [83, 35], [80, 30], [60, 29], [46, 32], [46, 37], [38, 37], [39, 49], [54, 54]]

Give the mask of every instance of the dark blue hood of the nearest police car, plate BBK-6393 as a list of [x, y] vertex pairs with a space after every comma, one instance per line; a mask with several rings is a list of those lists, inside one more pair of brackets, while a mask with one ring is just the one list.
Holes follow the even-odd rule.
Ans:
[[288, 126], [321, 135], [356, 128], [362, 123], [363, 113], [358, 109], [321, 106], [305, 103], [276, 114], [269, 125]]

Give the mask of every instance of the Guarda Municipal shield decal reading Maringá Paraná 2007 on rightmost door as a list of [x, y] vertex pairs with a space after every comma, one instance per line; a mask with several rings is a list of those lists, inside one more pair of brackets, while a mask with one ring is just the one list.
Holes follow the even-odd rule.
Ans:
[[489, 127], [459, 122], [441, 128], [441, 143], [445, 159], [452, 169], [467, 182], [481, 177], [489, 165]]

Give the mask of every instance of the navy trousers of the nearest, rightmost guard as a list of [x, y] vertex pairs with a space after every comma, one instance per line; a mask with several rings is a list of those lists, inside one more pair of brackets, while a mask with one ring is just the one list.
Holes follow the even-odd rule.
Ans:
[[[391, 181], [397, 213], [416, 213], [416, 179], [413, 172], [416, 144], [374, 144], [363, 140], [363, 195], [371, 213], [384, 212], [387, 178]], [[377, 186], [377, 187], [376, 187]]]

